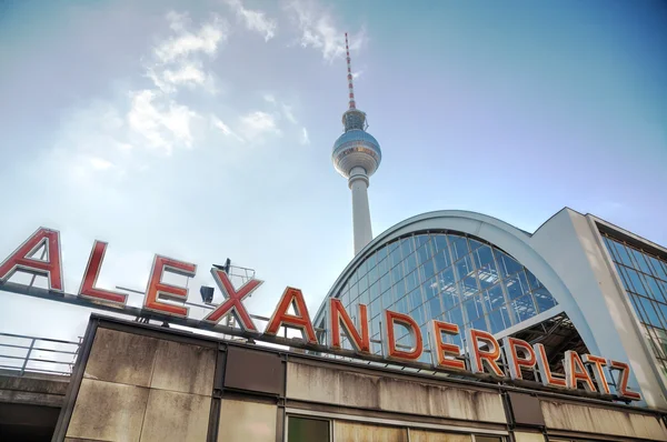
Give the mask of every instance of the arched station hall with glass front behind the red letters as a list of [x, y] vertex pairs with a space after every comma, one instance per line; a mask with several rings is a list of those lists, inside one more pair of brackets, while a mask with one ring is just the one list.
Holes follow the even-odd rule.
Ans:
[[[629, 385], [645, 405], [667, 410], [666, 277], [665, 248], [590, 214], [564, 209], [528, 233], [479, 213], [440, 211], [375, 238], [327, 298], [350, 312], [368, 305], [375, 353], [379, 312], [389, 309], [410, 314], [424, 336], [436, 319], [550, 343], [556, 372], [571, 348], [606, 354], [630, 364]], [[316, 327], [326, 328], [326, 313], [322, 303]], [[410, 345], [404, 328], [396, 333]]]

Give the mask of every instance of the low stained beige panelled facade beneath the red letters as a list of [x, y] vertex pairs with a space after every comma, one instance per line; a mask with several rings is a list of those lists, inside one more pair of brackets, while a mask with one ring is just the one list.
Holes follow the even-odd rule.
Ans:
[[92, 317], [53, 441], [664, 441], [649, 410]]

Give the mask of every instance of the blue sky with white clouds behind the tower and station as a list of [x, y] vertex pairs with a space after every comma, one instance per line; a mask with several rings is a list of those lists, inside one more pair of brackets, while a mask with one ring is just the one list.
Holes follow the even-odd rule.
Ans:
[[[59, 230], [70, 293], [96, 239], [103, 288], [145, 290], [155, 253], [212, 285], [230, 258], [265, 281], [251, 312], [290, 285], [313, 315], [352, 258], [346, 31], [376, 234], [569, 207], [667, 245], [664, 2], [4, 0], [0, 255]], [[74, 339], [89, 313], [0, 293], [0, 332]]]

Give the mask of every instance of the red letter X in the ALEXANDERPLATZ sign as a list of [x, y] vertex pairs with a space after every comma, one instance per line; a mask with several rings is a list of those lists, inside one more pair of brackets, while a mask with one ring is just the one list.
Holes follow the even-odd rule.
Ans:
[[218, 305], [216, 310], [210, 312], [203, 319], [203, 321], [217, 324], [222, 317], [229, 313], [233, 313], [245, 331], [257, 332], [257, 328], [252, 322], [252, 318], [250, 318], [250, 314], [248, 314], [248, 311], [243, 307], [242, 301], [246, 297], [252, 293], [255, 289], [261, 285], [263, 281], [251, 279], [250, 281], [241, 285], [241, 288], [237, 291], [231, 284], [231, 281], [229, 281], [229, 277], [227, 277], [227, 273], [222, 270], [213, 268], [211, 269], [211, 274], [216, 280], [216, 284], [218, 284], [218, 288], [227, 298], [227, 300], [220, 305]]

